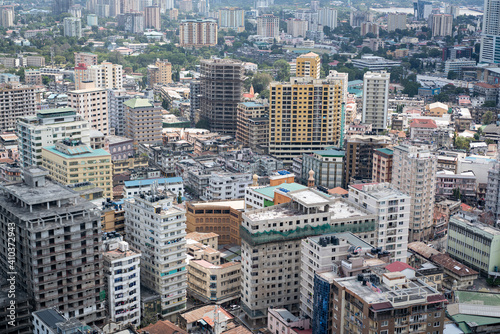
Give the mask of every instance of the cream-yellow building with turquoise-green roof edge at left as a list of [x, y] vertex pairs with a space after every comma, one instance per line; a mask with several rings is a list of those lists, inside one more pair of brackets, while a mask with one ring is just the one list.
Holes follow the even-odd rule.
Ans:
[[103, 149], [91, 149], [79, 140], [63, 139], [55, 146], [42, 148], [42, 166], [50, 177], [64, 185], [91, 182], [113, 198], [111, 155]]

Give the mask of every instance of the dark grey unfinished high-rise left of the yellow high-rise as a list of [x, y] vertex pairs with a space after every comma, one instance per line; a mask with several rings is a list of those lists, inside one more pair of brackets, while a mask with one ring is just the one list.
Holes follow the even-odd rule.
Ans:
[[232, 59], [201, 61], [200, 115], [211, 131], [236, 135], [237, 106], [243, 93], [243, 64]]

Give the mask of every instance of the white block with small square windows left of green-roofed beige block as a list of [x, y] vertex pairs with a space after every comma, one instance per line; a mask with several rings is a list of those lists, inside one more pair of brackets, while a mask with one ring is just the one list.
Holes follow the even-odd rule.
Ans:
[[109, 134], [108, 92], [96, 88], [93, 82], [85, 82], [82, 89], [68, 92], [68, 107], [89, 121], [92, 129]]

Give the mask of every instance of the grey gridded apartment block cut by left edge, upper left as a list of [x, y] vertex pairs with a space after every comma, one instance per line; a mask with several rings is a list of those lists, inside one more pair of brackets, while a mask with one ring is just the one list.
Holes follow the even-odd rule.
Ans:
[[15, 129], [19, 117], [34, 115], [37, 99], [37, 92], [33, 87], [2, 86], [0, 86], [0, 132]]

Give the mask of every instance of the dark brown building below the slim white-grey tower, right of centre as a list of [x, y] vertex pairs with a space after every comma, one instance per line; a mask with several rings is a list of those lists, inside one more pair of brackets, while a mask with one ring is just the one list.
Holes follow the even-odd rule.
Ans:
[[345, 141], [344, 176], [342, 188], [350, 183], [372, 182], [373, 152], [391, 144], [388, 136], [353, 135]]

